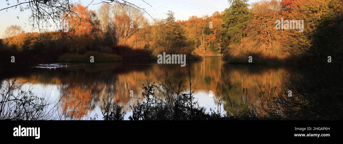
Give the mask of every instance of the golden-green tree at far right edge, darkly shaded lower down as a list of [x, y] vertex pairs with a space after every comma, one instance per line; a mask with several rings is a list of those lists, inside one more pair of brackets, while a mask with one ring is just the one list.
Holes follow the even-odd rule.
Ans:
[[304, 32], [292, 31], [296, 54], [311, 58], [327, 58], [342, 54], [343, 9], [341, 0], [284, 1], [290, 8], [290, 19], [304, 20]]

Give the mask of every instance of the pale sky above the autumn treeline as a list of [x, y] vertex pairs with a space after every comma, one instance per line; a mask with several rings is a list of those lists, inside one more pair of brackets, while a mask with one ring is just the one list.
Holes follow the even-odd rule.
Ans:
[[[24, 1], [24, 0], [20, 0]], [[84, 6], [90, 4], [92, 0], [72, 0], [73, 2], [81, 2]], [[94, 0], [88, 7], [91, 10], [97, 10], [101, 0]], [[130, 3], [137, 5], [138, 7], [145, 8], [154, 19], [165, 19], [168, 10], [175, 13], [176, 20], [188, 20], [189, 16], [197, 15], [199, 17], [204, 15], [211, 15], [216, 11], [224, 11], [229, 7], [227, 0], [144, 0], [149, 3], [146, 4], [142, 0], [127, 0]], [[249, 0], [249, 3], [256, 2], [258, 0]], [[15, 4], [16, 0], [9, 0], [11, 4]], [[6, 0], [0, 0], [0, 9], [7, 6]], [[21, 25], [26, 32], [32, 31], [32, 26], [28, 22], [28, 15], [30, 10], [20, 12], [19, 9], [8, 9], [0, 11], [0, 37], [3, 37], [6, 27], [10, 25]], [[19, 16], [19, 19], [17, 19]], [[146, 18], [153, 21], [149, 15], [146, 14]], [[55, 30], [53, 27], [50, 30]], [[33, 30], [34, 32], [36, 30]]]

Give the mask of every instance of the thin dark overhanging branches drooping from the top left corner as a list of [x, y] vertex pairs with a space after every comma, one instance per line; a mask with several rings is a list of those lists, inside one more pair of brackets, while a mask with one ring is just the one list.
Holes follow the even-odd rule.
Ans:
[[[142, 1], [145, 2], [144, 0]], [[65, 16], [75, 14], [75, 11], [72, 9], [74, 3], [71, 0], [16, 0], [13, 2], [5, 0], [5, 2], [7, 4], [0, 8], [0, 11], [8, 10], [10, 8], [19, 9], [21, 12], [29, 11], [28, 21], [33, 27], [38, 27], [39, 32], [43, 27], [56, 26], [59, 28], [58, 24], [62, 13], [64, 13]], [[91, 1], [89, 5], [93, 2], [94, 1]], [[122, 8], [133, 8], [146, 12], [145, 9], [130, 1], [102, 0], [94, 4], [101, 3], [119, 4]]]

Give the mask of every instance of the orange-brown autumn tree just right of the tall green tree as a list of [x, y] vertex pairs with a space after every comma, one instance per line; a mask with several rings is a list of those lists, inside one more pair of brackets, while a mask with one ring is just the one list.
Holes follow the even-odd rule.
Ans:
[[[282, 8], [277, 0], [262, 0], [252, 4], [252, 21], [248, 24], [248, 36], [257, 41], [256, 52], [263, 57], [281, 58], [290, 52], [289, 31], [275, 29], [275, 21], [282, 18]], [[281, 45], [282, 44], [282, 45]]]

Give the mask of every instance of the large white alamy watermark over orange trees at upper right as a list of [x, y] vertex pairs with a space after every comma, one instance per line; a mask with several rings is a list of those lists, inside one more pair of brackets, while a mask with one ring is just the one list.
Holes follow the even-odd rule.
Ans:
[[276, 30], [299, 30], [300, 33], [304, 32], [304, 20], [281, 20], [275, 21]]

